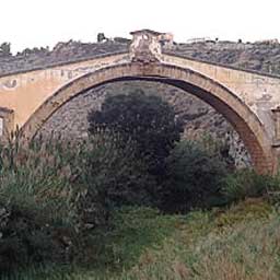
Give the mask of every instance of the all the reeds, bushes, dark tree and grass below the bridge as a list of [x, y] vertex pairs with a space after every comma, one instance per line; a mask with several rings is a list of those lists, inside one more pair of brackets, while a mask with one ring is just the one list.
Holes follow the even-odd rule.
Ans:
[[0, 147], [0, 279], [278, 279], [279, 176], [179, 141], [142, 92], [89, 119], [82, 142]]

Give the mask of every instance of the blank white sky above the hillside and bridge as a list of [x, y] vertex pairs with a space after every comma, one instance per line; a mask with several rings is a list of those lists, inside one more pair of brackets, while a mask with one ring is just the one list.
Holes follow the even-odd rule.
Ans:
[[0, 43], [13, 52], [139, 28], [172, 32], [176, 42], [280, 39], [280, 0], [0, 0]]

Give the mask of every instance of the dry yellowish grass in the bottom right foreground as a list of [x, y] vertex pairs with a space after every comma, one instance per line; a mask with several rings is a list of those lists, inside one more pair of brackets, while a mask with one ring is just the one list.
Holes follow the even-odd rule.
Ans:
[[[259, 211], [254, 218], [256, 208]], [[243, 215], [243, 220], [235, 219], [236, 214]], [[196, 229], [186, 226], [176, 231], [160, 250], [148, 250], [139, 264], [119, 279], [279, 279], [280, 219], [268, 205], [249, 201], [213, 219], [207, 214], [201, 219], [201, 215], [197, 213], [196, 217], [200, 218], [200, 225], [197, 220]], [[223, 219], [228, 215], [229, 220], [234, 217], [232, 224], [218, 229], [217, 220], [221, 215]], [[192, 219], [195, 215], [189, 224], [194, 223]]]

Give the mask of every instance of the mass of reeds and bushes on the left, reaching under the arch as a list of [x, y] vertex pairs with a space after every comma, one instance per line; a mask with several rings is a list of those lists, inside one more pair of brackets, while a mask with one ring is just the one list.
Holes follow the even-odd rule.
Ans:
[[144, 170], [116, 135], [1, 147], [0, 270], [82, 257], [114, 206], [149, 203], [154, 183]]

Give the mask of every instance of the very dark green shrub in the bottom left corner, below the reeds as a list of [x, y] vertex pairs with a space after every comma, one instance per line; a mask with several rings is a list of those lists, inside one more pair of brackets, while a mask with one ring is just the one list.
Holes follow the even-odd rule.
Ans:
[[1, 205], [0, 209], [0, 271], [10, 271], [28, 262], [66, 259], [66, 244], [54, 238], [57, 228], [40, 220], [39, 214], [34, 217], [13, 205]]

